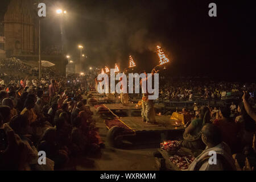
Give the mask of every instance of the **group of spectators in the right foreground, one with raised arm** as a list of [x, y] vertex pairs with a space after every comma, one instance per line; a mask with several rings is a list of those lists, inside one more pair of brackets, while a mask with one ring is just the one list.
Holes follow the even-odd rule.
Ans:
[[[250, 99], [250, 94], [243, 92], [238, 105], [234, 102], [220, 108], [195, 105], [196, 117], [186, 123], [181, 146], [204, 151], [189, 170], [254, 170], [256, 113]], [[184, 108], [182, 113], [188, 112]], [[217, 165], [208, 163], [209, 151], [216, 152]]]

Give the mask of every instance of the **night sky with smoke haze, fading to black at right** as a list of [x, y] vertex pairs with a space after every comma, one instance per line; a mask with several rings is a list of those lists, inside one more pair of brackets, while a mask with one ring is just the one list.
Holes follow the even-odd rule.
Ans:
[[[6, 0], [1, 0], [6, 1]], [[85, 47], [88, 65], [122, 68], [131, 54], [139, 70], [159, 60], [155, 46], [170, 58], [170, 76], [243, 77], [255, 80], [256, 5], [254, 1], [203, 0], [45, 0], [43, 46], [59, 42], [57, 7], [64, 18], [68, 54]], [[217, 4], [217, 17], [208, 5]]]

